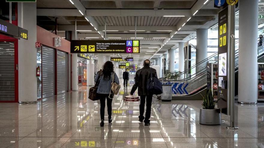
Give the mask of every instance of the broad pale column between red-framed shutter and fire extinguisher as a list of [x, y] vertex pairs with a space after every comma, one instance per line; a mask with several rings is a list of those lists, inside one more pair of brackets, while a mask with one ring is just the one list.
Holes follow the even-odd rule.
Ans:
[[36, 3], [18, 3], [18, 15], [18, 26], [29, 31], [28, 40], [18, 40], [18, 101], [34, 103], [37, 102]]

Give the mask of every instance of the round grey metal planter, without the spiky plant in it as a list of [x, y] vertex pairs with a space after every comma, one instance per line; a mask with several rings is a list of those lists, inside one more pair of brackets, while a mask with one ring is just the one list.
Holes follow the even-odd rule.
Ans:
[[220, 109], [200, 108], [200, 124], [219, 125], [221, 124]]

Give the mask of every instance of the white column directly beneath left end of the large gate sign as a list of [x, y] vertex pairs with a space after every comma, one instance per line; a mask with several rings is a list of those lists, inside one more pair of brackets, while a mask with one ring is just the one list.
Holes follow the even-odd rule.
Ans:
[[72, 68], [72, 91], [78, 91], [78, 59], [77, 54], [72, 54], [71, 68]]

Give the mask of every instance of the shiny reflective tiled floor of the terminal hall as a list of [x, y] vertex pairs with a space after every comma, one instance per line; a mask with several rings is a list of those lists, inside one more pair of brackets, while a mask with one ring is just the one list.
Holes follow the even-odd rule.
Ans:
[[87, 89], [37, 104], [0, 103], [0, 147], [264, 147], [264, 103], [236, 103], [239, 129], [233, 131], [225, 115], [221, 125], [200, 125], [201, 101], [153, 99], [151, 125], [144, 126], [139, 102], [123, 101], [129, 86], [113, 100], [113, 123], [100, 127], [100, 103], [87, 98]]

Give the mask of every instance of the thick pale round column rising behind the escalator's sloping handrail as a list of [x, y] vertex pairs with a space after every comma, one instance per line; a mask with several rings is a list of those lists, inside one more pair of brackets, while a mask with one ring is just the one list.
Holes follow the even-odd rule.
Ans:
[[[196, 64], [207, 58], [207, 29], [196, 30]], [[206, 67], [206, 62], [203, 62], [202, 67], [197, 66], [196, 72], [201, 68]]]

